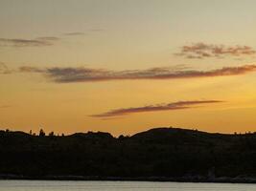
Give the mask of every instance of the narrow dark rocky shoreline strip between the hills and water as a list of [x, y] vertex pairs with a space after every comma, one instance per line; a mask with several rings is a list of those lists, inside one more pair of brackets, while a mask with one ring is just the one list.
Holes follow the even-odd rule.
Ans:
[[0, 175], [0, 180], [101, 180], [101, 181], [162, 181], [162, 182], [195, 182], [195, 183], [256, 183], [254, 177], [244, 178], [228, 178], [220, 177], [208, 179], [205, 177], [181, 177], [181, 178], [167, 178], [167, 177], [99, 177], [99, 176], [43, 176], [43, 177], [29, 177], [17, 175]]

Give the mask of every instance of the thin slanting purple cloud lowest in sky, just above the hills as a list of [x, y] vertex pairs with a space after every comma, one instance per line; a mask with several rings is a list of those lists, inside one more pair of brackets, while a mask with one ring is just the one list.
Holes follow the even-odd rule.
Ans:
[[159, 112], [159, 111], [170, 111], [170, 110], [184, 110], [195, 108], [195, 106], [201, 104], [212, 104], [220, 103], [221, 100], [192, 100], [192, 101], [177, 101], [167, 104], [157, 104], [157, 105], [148, 105], [143, 107], [131, 107], [131, 108], [121, 108], [116, 110], [111, 110], [109, 112], [92, 115], [90, 117], [117, 117], [124, 116], [134, 113], [143, 113], [143, 112]]

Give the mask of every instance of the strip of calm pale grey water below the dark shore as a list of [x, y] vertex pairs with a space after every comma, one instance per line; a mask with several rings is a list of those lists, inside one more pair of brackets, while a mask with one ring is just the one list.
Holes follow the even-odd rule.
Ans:
[[176, 183], [146, 181], [0, 180], [0, 191], [256, 191], [256, 184]]

